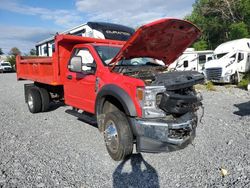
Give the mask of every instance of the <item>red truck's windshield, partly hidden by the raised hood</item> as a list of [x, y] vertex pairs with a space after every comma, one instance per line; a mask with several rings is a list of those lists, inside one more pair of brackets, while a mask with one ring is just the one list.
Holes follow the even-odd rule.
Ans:
[[[115, 55], [120, 51], [120, 47], [111, 47], [111, 46], [95, 46], [95, 49], [102, 59], [104, 65], [108, 65], [110, 61], [115, 57]], [[121, 60], [116, 65], [118, 66], [142, 66], [142, 65], [156, 65], [164, 66], [165, 64], [153, 58], [148, 57], [139, 57], [132, 58], [127, 60]]]

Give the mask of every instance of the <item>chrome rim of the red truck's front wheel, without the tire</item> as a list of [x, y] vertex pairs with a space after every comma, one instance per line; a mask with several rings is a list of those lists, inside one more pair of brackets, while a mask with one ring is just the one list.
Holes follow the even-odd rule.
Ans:
[[112, 120], [109, 120], [106, 123], [105, 127], [106, 127], [104, 131], [105, 144], [111, 152], [116, 152], [119, 146], [119, 139], [115, 123]]

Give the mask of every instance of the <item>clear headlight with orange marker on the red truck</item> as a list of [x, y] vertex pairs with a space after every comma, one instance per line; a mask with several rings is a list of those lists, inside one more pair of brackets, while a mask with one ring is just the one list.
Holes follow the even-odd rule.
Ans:
[[165, 113], [158, 108], [161, 100], [161, 93], [165, 91], [164, 86], [146, 86], [137, 88], [137, 98], [142, 107], [142, 116], [144, 118], [164, 117]]

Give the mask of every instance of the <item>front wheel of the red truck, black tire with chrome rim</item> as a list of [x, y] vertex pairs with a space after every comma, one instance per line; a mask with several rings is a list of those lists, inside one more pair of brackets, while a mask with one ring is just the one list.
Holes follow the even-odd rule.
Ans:
[[109, 112], [104, 120], [104, 141], [108, 153], [121, 161], [133, 152], [133, 134], [127, 117], [121, 111]]

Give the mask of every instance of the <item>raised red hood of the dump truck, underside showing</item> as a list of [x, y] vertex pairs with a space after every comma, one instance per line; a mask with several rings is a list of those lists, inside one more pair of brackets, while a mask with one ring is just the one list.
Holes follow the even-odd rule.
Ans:
[[200, 30], [190, 22], [173, 18], [160, 19], [141, 26], [110, 64], [115, 65], [121, 59], [151, 57], [169, 65], [200, 35]]

